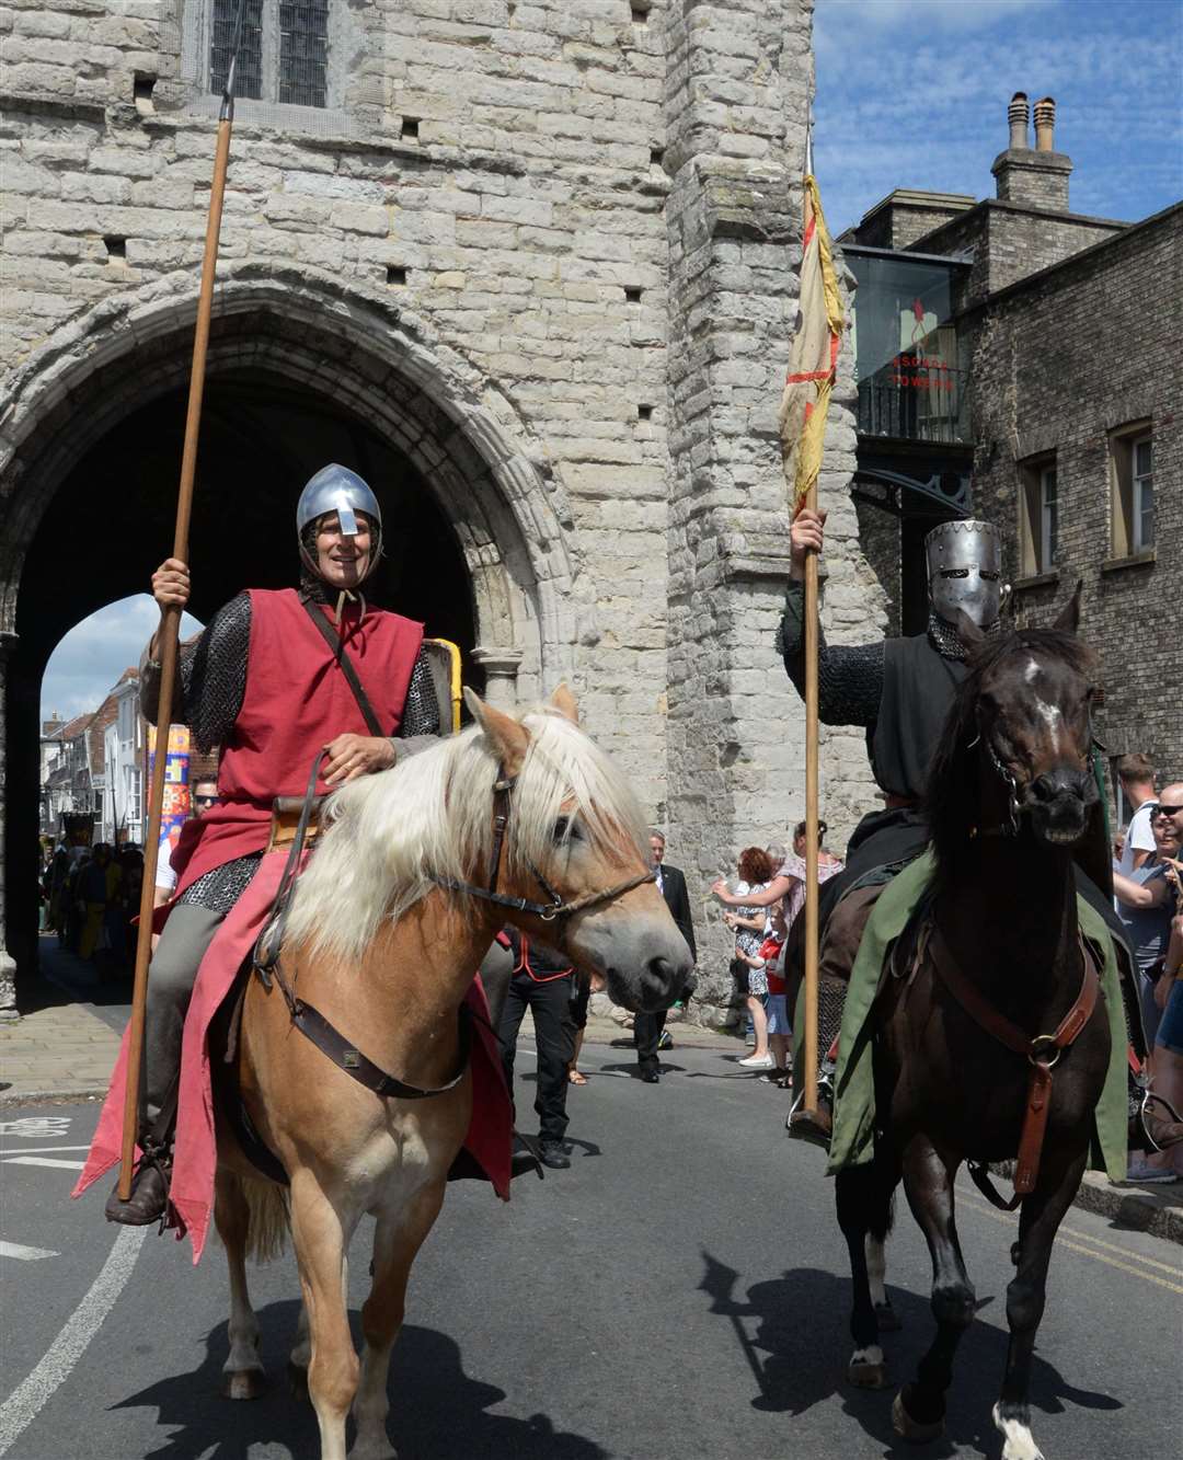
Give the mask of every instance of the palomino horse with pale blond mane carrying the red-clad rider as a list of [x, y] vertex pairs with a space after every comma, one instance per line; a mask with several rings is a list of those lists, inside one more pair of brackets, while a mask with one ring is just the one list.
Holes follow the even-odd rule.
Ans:
[[[459, 1009], [505, 921], [562, 946], [629, 1009], [666, 1007], [691, 972], [653, 883], [640, 806], [575, 726], [570, 694], [561, 689], [520, 721], [475, 695], [469, 705], [478, 726], [334, 796], [280, 958], [302, 1000], [416, 1086], [456, 1075]], [[507, 823], [495, 831], [501, 818]], [[321, 1457], [343, 1460], [351, 1405], [355, 1460], [390, 1457], [390, 1352], [410, 1264], [469, 1127], [470, 1076], [431, 1099], [378, 1096], [304, 1038], [280, 991], [254, 978], [240, 1038], [247, 1111], [282, 1161], [291, 1197], [259, 1180], [219, 1130], [215, 1216], [231, 1278], [226, 1391], [259, 1391], [245, 1256], [282, 1235], [289, 1200], [304, 1295], [292, 1364], [307, 1367]], [[359, 1362], [345, 1270], [364, 1212], [377, 1229]]]

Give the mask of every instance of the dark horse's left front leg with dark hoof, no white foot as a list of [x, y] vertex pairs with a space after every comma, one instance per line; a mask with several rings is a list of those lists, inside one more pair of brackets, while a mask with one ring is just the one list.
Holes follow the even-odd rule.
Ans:
[[942, 1156], [926, 1136], [904, 1150], [904, 1190], [932, 1257], [932, 1311], [936, 1337], [920, 1361], [916, 1381], [895, 1396], [891, 1419], [906, 1440], [935, 1440], [945, 1428], [945, 1391], [961, 1334], [973, 1323], [974, 1288], [961, 1257], [954, 1219], [958, 1162]]

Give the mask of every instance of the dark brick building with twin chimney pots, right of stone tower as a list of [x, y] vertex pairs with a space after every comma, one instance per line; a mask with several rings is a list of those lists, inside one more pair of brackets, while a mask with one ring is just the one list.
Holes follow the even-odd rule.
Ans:
[[900, 190], [843, 237], [860, 540], [894, 632], [923, 626], [920, 545], [952, 515], [999, 526], [1019, 622], [1049, 623], [1081, 578], [1098, 734], [1179, 780], [1183, 204], [1072, 213], [1054, 102], [1034, 147], [1028, 121], [1018, 93], [996, 197]]

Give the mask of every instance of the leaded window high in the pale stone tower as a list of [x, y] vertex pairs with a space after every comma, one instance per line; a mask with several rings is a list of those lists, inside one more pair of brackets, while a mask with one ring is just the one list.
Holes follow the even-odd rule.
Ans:
[[[209, 89], [222, 95], [240, 0], [209, 0]], [[329, 104], [329, 0], [245, 0], [234, 95]]]

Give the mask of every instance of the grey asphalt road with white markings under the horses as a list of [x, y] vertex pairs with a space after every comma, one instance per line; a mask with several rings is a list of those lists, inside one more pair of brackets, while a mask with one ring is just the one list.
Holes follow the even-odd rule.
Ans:
[[[592, 1079], [570, 1101], [573, 1169], [516, 1183], [507, 1207], [485, 1187], [451, 1188], [396, 1350], [391, 1434], [403, 1460], [917, 1454], [891, 1434], [889, 1393], [841, 1383], [844, 1248], [819, 1153], [783, 1136], [784, 1095], [733, 1057], [666, 1058], [666, 1077], [647, 1086], [629, 1077], [628, 1051], [586, 1050]], [[3, 1115], [3, 1238], [23, 1251], [0, 1257], [0, 1456], [315, 1456], [313, 1412], [282, 1381], [296, 1314], [291, 1259], [254, 1279], [275, 1384], [231, 1405], [218, 1397], [218, 1247], [194, 1270], [171, 1238], [108, 1226], [105, 1191], [67, 1200], [93, 1104]], [[948, 1440], [926, 1451], [938, 1460], [1000, 1453], [990, 1405], [1014, 1221], [970, 1190], [960, 1228], [980, 1314], [961, 1348]], [[355, 1311], [367, 1238], [368, 1226], [353, 1248]], [[927, 1257], [907, 1215], [888, 1280], [906, 1323], [888, 1345], [900, 1380], [930, 1334]], [[1069, 1215], [1033, 1396], [1049, 1460], [1174, 1453], [1180, 1294], [1179, 1247]]]

